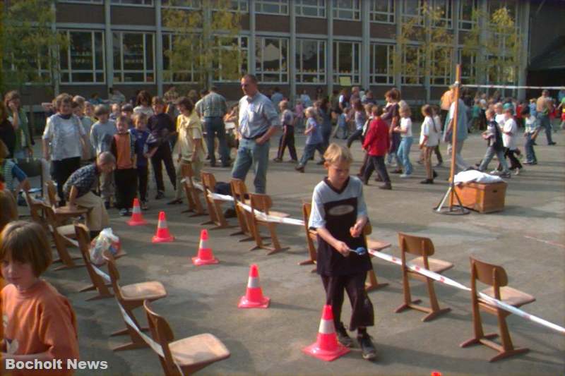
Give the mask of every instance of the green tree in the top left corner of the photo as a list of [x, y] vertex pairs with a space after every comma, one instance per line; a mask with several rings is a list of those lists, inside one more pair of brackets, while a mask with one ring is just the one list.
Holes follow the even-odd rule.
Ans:
[[54, 0], [6, 1], [1, 13], [3, 31], [2, 83], [6, 89], [21, 90], [26, 83], [43, 83], [57, 92], [59, 48], [68, 40], [55, 23]]

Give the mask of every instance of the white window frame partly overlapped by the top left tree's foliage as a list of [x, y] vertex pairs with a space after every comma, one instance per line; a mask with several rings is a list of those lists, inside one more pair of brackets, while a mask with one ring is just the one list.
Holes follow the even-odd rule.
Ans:
[[[65, 59], [67, 61], [67, 68], [61, 68], [61, 61], [63, 60], [63, 56], [61, 56], [61, 51], [59, 51], [59, 83], [61, 85], [104, 85], [106, 80], [106, 40], [105, 40], [105, 30], [85, 30], [85, 29], [60, 29], [57, 30], [58, 32], [63, 32], [64, 35], [69, 39], [69, 48], [66, 50]], [[73, 69], [72, 63], [72, 56], [71, 56], [71, 32], [82, 32], [82, 33], [90, 33], [90, 47], [92, 48], [92, 66], [93, 69]], [[95, 33], [99, 32], [102, 39], [102, 68], [97, 68], [96, 64], [96, 44], [95, 44]], [[73, 73], [92, 73], [93, 81], [91, 82], [79, 82], [73, 81]], [[98, 81], [96, 79], [97, 74], [102, 73], [102, 80]], [[69, 80], [63, 80], [63, 75], [68, 74]]]

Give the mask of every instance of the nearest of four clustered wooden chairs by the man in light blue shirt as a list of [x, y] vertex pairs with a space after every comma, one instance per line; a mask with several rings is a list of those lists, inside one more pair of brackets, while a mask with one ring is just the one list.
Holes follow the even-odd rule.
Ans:
[[[258, 219], [257, 214], [255, 214], [255, 212], [256, 211], [263, 212], [265, 214], [272, 215], [274, 217], [281, 217], [281, 218], [289, 217], [289, 214], [270, 210], [270, 208], [273, 206], [273, 201], [270, 200], [269, 195], [250, 193], [249, 198], [251, 201], [250, 202], [251, 213], [249, 213], [250, 214], [249, 224], [251, 225], [250, 226], [251, 233], [253, 234], [256, 243], [256, 245], [250, 250], [263, 248], [266, 250], [270, 250], [270, 252], [268, 252], [267, 255], [273, 255], [273, 253], [290, 249], [290, 247], [283, 248], [280, 246], [280, 242], [278, 241], [278, 236], [277, 236], [277, 224], [274, 222], [267, 222]], [[270, 240], [272, 241], [271, 247], [268, 247], [267, 246], [268, 244], [263, 243], [263, 236], [261, 236], [261, 231], [259, 231], [259, 226], [264, 226], [268, 228], [270, 234]]]

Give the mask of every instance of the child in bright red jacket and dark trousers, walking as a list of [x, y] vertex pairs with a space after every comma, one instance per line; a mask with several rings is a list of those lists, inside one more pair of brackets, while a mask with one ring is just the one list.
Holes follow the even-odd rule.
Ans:
[[371, 107], [372, 120], [369, 123], [369, 130], [363, 141], [363, 149], [367, 150], [369, 162], [364, 169], [363, 183], [367, 185], [373, 170], [379, 174], [379, 180], [384, 184], [379, 186], [381, 189], [392, 189], [391, 178], [388, 176], [386, 166], [384, 164], [384, 156], [390, 147], [391, 139], [388, 134], [388, 125], [381, 119], [383, 109], [380, 106]]

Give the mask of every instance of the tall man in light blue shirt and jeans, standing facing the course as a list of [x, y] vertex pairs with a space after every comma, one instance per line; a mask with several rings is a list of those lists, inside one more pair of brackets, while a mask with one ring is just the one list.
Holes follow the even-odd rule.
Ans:
[[244, 75], [242, 78], [244, 97], [239, 99], [239, 140], [237, 159], [232, 169], [232, 178], [245, 180], [247, 172], [254, 166], [256, 193], [266, 193], [269, 139], [280, 127], [280, 120], [273, 102], [258, 91], [257, 78]]

